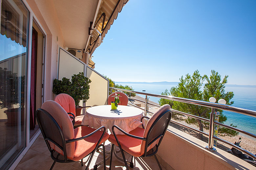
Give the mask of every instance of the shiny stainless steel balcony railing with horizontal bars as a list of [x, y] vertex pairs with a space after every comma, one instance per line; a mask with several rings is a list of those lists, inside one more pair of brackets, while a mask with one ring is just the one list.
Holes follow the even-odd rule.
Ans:
[[138, 107], [138, 106], [136, 106], [136, 105], [134, 105], [134, 104], [131, 104], [134, 107], [137, 107], [137, 108], [139, 108], [141, 110], [144, 110], [145, 116], [147, 115], [147, 112], [153, 113], [153, 112], [147, 110], [147, 104], [150, 104], [150, 105], [153, 105], [153, 106], [157, 106], [157, 107], [161, 107], [160, 105], [149, 103], [148, 99], [147, 99], [148, 96], [159, 97], [159, 98], [163, 98], [163, 99], [179, 101], [179, 102], [183, 102], [183, 103], [194, 104], [194, 105], [199, 105], [199, 106], [204, 106], [204, 107], [212, 108], [212, 111], [211, 111], [211, 114], [210, 114], [210, 119], [205, 119], [203, 117], [199, 117], [199, 116], [195, 116], [195, 115], [192, 115], [192, 114], [189, 114], [189, 113], [181, 112], [179, 110], [171, 109], [172, 112], [176, 112], [176, 113], [179, 113], [179, 114], [183, 114], [183, 115], [186, 115], [186, 116], [190, 116], [190, 117], [193, 117], [193, 118], [196, 118], [196, 119], [200, 119], [200, 120], [209, 122], [209, 134], [205, 133], [205, 132], [203, 132], [201, 130], [195, 129], [193, 127], [189, 127], [187, 125], [184, 125], [184, 124], [182, 124], [180, 122], [177, 122], [177, 121], [174, 121], [174, 120], [171, 120], [171, 122], [175, 123], [175, 124], [178, 124], [180, 126], [186, 127], [188, 129], [194, 130], [194, 131], [196, 131], [196, 132], [198, 132], [200, 134], [203, 134], [205, 136], [208, 136], [208, 146], [206, 146], [205, 148], [210, 150], [210, 151], [216, 151], [216, 148], [213, 147], [213, 139], [216, 139], [216, 140], [221, 141], [221, 142], [223, 142], [225, 144], [229, 144], [232, 147], [234, 147], [234, 148], [240, 150], [241, 152], [246, 153], [246, 154], [250, 155], [252, 158], [256, 159], [256, 156], [253, 155], [252, 153], [248, 152], [247, 150], [245, 150], [245, 149], [243, 149], [243, 148], [241, 148], [241, 147], [239, 147], [239, 146], [237, 146], [235, 144], [232, 144], [232, 143], [230, 143], [228, 141], [225, 141], [225, 140], [223, 140], [221, 138], [218, 138], [218, 137], [213, 135], [214, 134], [214, 125], [219, 125], [219, 126], [222, 126], [222, 127], [226, 127], [226, 128], [229, 128], [229, 129], [232, 129], [232, 130], [244, 133], [244, 134], [246, 134], [246, 135], [256, 139], [256, 135], [255, 134], [252, 134], [252, 133], [247, 132], [245, 130], [241, 130], [241, 129], [236, 128], [236, 127], [225, 125], [225, 124], [220, 123], [220, 122], [216, 122], [215, 121], [215, 112], [214, 112], [215, 109], [220, 109], [220, 110], [232, 111], [232, 112], [244, 114], [244, 115], [247, 115], [247, 116], [256, 117], [256, 111], [254, 111], [254, 110], [247, 110], [247, 109], [238, 108], [238, 107], [234, 107], [234, 106], [230, 106], [230, 105], [225, 105], [225, 104], [211, 103], [211, 102], [200, 101], [200, 100], [193, 100], [193, 99], [186, 99], [186, 98], [181, 98], [181, 97], [166, 96], [166, 95], [152, 94], [152, 93], [143, 93], [143, 92], [137, 92], [137, 91], [132, 91], [132, 90], [126, 90], [126, 89], [118, 89], [118, 88], [114, 88], [114, 87], [109, 87], [109, 88], [110, 88], [110, 92], [111, 93], [112, 93], [112, 89], [114, 89], [116, 91], [123, 91], [123, 92], [129, 92], [129, 93], [136, 93], [136, 94], [145, 95], [145, 101], [128, 97], [130, 99], [133, 99], [133, 100], [145, 103], [145, 108], [143, 108], [143, 109]]

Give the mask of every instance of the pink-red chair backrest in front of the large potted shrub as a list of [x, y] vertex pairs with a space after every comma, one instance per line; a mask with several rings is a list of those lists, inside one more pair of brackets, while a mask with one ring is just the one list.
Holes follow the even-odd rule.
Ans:
[[55, 102], [57, 102], [67, 113], [71, 112], [75, 115], [75, 100], [68, 94], [61, 93], [56, 95]]

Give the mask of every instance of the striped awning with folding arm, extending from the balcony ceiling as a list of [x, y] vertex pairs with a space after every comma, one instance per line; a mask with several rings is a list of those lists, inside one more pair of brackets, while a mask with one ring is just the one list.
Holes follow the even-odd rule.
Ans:
[[101, 17], [99, 22], [96, 25], [96, 29], [93, 30], [93, 33], [92, 33], [93, 36], [90, 38], [90, 41], [86, 47], [86, 51], [88, 51], [90, 55], [92, 55], [95, 49], [100, 45], [103, 38], [105, 37], [108, 30], [110, 29], [110, 26], [113, 24], [114, 20], [117, 19], [118, 13], [121, 12], [123, 6], [128, 1], [129, 0], [102, 0], [101, 1], [96, 22], [100, 18], [101, 14], [105, 13], [106, 14], [106, 18], [104, 22], [105, 27], [103, 31], [101, 31], [102, 22], [103, 22], [103, 17]]

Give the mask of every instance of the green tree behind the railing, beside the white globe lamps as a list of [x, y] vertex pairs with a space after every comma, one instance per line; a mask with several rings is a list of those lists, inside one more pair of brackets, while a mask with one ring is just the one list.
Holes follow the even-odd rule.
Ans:
[[[215, 72], [212, 70], [212, 75], [208, 78], [206, 75], [201, 76], [199, 74], [199, 71], [196, 70], [193, 75], [187, 74], [185, 77], [181, 76], [180, 83], [176, 87], [172, 87], [170, 92], [167, 92], [165, 90], [163, 95], [173, 95], [176, 97], [182, 97], [182, 98], [189, 98], [194, 100], [204, 100], [208, 101], [210, 97], [215, 97], [218, 99], [225, 99], [227, 101], [227, 104], [233, 104], [233, 102], [230, 102], [231, 98], [233, 97], [233, 92], [227, 92], [225, 93], [225, 86], [224, 84], [227, 83], [227, 77], [225, 76], [224, 79], [221, 81], [221, 76], [218, 74], [218, 72]], [[203, 86], [203, 82], [207, 81], [207, 83], [204, 86], [204, 90], [201, 91], [201, 88]], [[169, 104], [170, 102], [166, 100], [160, 100], [160, 105]], [[196, 116], [208, 118], [210, 116], [211, 109], [203, 106], [193, 105], [193, 104], [186, 104], [182, 102], [173, 101], [173, 105], [171, 105], [173, 109], [179, 110], [182, 112], [186, 112], [189, 114], [193, 114]], [[219, 117], [219, 122], [223, 123], [226, 121], [226, 116], [222, 114], [222, 110], [219, 110], [221, 112]], [[174, 117], [175, 118], [175, 117]], [[203, 122], [199, 119], [190, 118], [188, 117], [185, 120], [189, 124], [196, 124], [199, 126], [199, 129], [203, 131], [203, 128], [208, 129], [209, 123]], [[235, 132], [233, 130], [227, 130], [224, 127], [219, 128], [220, 133], [224, 135], [237, 135], [238, 132]], [[203, 139], [203, 135], [199, 135], [200, 139]]]

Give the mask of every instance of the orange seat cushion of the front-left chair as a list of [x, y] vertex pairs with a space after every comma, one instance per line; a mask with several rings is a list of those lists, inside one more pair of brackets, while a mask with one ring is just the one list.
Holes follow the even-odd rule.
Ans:
[[[80, 138], [82, 136], [86, 136], [95, 130], [96, 129], [93, 129], [93, 128], [87, 127], [87, 126], [77, 127], [74, 129], [75, 138]], [[76, 141], [75, 142], [74, 158], [72, 160], [79, 161], [79, 160], [83, 159], [84, 157], [86, 157], [89, 153], [91, 153], [95, 149], [101, 135], [102, 135], [102, 131], [98, 131], [94, 135], [92, 135], [86, 139]], [[108, 139], [108, 137], [109, 137], [109, 134], [105, 133], [100, 144], [105, 142]]]

